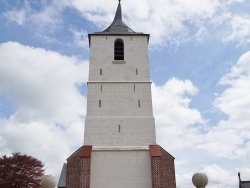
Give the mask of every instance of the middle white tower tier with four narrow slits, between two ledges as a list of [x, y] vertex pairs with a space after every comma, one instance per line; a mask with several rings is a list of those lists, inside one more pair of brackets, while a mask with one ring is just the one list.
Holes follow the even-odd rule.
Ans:
[[151, 83], [89, 83], [87, 117], [99, 116], [153, 117]]

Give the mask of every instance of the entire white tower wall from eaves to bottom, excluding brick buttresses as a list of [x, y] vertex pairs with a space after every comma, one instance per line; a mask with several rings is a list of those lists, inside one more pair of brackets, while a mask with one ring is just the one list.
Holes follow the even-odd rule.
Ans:
[[[124, 61], [114, 61], [117, 38], [124, 41]], [[145, 147], [156, 138], [148, 36], [92, 35], [90, 46], [84, 132], [84, 144], [93, 146], [90, 187], [151, 188], [151, 160]]]

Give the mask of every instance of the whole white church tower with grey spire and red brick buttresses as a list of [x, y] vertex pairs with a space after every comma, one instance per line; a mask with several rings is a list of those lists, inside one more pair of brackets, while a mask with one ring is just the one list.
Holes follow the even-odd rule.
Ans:
[[174, 158], [156, 145], [148, 42], [123, 22], [120, 0], [111, 25], [89, 34], [84, 145], [58, 187], [176, 187]]

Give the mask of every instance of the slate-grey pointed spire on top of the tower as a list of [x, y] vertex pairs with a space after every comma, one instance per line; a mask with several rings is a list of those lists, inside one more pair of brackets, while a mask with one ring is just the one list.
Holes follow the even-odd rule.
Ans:
[[116, 10], [115, 18], [111, 25], [105, 29], [102, 33], [136, 33], [132, 29], [130, 29], [123, 21], [122, 21], [122, 7], [121, 0], [119, 0], [119, 4]]

